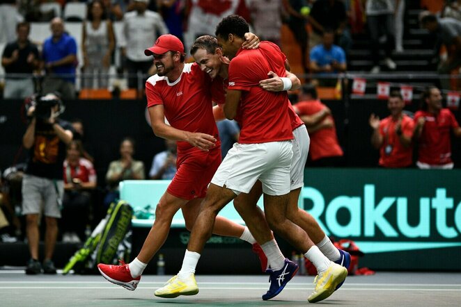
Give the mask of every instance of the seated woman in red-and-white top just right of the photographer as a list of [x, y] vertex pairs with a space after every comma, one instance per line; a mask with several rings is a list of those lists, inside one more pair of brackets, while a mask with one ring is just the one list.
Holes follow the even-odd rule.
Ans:
[[63, 242], [80, 242], [90, 222], [91, 190], [96, 188], [96, 172], [93, 163], [83, 158], [83, 146], [78, 140], [68, 145], [63, 164], [64, 198], [61, 231]]

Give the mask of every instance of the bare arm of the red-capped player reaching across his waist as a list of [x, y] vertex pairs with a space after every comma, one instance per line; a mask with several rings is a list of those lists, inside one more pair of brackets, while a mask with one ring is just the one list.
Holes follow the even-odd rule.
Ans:
[[148, 110], [152, 129], [159, 138], [185, 141], [203, 151], [208, 151], [215, 146], [217, 140], [212, 135], [182, 131], [166, 124], [162, 105], [151, 106]]

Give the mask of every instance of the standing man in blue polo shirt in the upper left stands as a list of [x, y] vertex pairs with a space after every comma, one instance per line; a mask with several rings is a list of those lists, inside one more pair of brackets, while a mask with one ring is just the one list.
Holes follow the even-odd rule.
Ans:
[[64, 31], [63, 19], [51, 21], [52, 36], [42, 47], [42, 59], [47, 75], [42, 84], [43, 92], [59, 92], [63, 99], [75, 99], [75, 67], [77, 66], [77, 42]]

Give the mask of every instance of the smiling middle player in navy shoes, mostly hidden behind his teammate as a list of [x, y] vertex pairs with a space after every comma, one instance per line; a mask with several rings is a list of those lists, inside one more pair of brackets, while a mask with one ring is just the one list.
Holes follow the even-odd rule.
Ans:
[[[213, 78], [213, 82], [217, 81], [214, 82], [212, 90], [215, 93], [218, 92], [214, 94], [213, 101], [219, 104], [214, 107], [214, 110], [216, 110], [217, 107], [218, 109], [223, 108], [225, 102], [224, 88], [227, 88], [224, 80], [228, 79], [229, 60], [222, 55], [222, 49], [219, 47], [217, 39], [210, 35], [203, 35], [197, 38], [192, 45], [191, 54], [194, 60], [196, 60], [196, 63], [200, 65], [201, 69]], [[287, 59], [285, 66], [286, 68], [289, 67]], [[272, 76], [272, 78], [260, 81], [260, 87], [274, 92], [282, 91], [283, 79], [276, 76], [273, 72], [269, 72], [269, 75]], [[294, 74], [287, 71], [286, 77], [289, 77], [292, 82], [292, 90], [296, 90], [300, 87], [301, 83]], [[224, 84], [221, 84], [223, 82]], [[301, 188], [304, 186], [304, 167], [309, 151], [309, 135], [306, 126], [304, 126], [299, 116], [296, 115], [291, 103], [288, 103], [288, 108], [294, 138], [292, 140], [293, 158], [290, 166], [290, 201], [286, 211], [287, 217], [308, 233], [309, 237], [319, 247], [320, 251], [322, 251], [322, 254], [325, 254], [330, 260], [342, 264], [343, 267], [347, 268], [350, 265], [350, 255], [334, 247], [331, 240], [325, 235], [315, 219], [305, 210], [299, 209], [298, 207], [299, 194]], [[225, 118], [224, 113], [221, 115], [219, 110], [214, 112], [214, 114], [217, 120]], [[267, 263], [262, 262], [263, 272], [266, 272], [266, 270], [270, 268], [267, 272], [278, 276], [276, 272], [283, 269], [285, 266], [285, 256], [281, 253], [278, 244], [274, 240], [272, 231], [270, 231], [269, 226], [267, 226], [263, 211], [256, 206], [262, 194], [263, 188], [261, 182], [256, 181], [248, 194], [239, 194], [233, 202], [238, 213], [240, 213], [245, 224], [247, 224], [250, 229], [251, 234], [258, 241], [260, 247], [267, 256]], [[255, 244], [253, 247], [257, 248], [259, 245]], [[285, 281], [288, 282], [287, 279]], [[282, 283], [281, 285], [278, 285], [278, 283], [275, 285], [271, 284], [269, 291], [263, 295], [263, 299], [272, 299], [275, 297], [281, 292], [280, 288], [283, 288], [285, 284], [286, 283]]]

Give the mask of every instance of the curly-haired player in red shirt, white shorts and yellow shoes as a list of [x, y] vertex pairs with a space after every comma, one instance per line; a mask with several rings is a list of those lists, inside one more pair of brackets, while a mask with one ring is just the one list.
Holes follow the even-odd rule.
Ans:
[[[214, 218], [238, 194], [250, 192], [257, 180], [263, 184], [265, 215], [269, 226], [299, 250], [307, 252], [313, 247], [306, 232], [286, 218], [293, 155], [288, 94], [286, 91], [267, 92], [259, 86], [260, 80], [267, 78], [269, 71], [279, 76], [286, 74], [285, 57], [279, 47], [271, 42], [261, 42], [258, 49], [251, 51], [241, 49], [243, 35], [247, 31], [247, 22], [237, 15], [224, 18], [217, 26], [218, 42], [224, 55], [231, 58], [224, 113], [228, 119], [236, 119], [240, 124], [240, 139], [228, 151], [213, 176], [192, 229], [180, 272], [163, 288], [155, 291], [156, 296], [177, 297], [198, 293], [195, 268], [205, 242], [210, 238]], [[285, 79], [285, 82], [289, 81]], [[290, 88], [290, 84], [284, 86], [284, 90]], [[325, 258], [320, 251], [318, 254]], [[322, 285], [316, 286], [309, 297], [310, 301], [329, 297], [336, 285], [347, 276], [344, 267], [329, 260], [325, 262], [322, 272], [328, 273], [325, 279], [320, 273], [322, 276], [319, 276], [317, 285]], [[279, 274], [271, 275], [276, 279], [271, 285], [280, 285], [297, 272], [297, 266], [289, 260], [285, 260], [285, 263], [283, 269], [277, 272]]]

